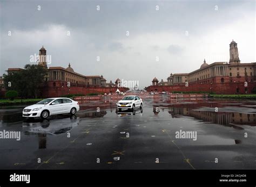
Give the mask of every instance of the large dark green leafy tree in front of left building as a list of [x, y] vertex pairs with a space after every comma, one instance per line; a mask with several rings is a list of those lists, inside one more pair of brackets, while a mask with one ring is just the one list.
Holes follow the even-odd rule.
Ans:
[[4, 87], [6, 90], [17, 90], [21, 97], [37, 98], [47, 75], [47, 69], [36, 64], [26, 64], [24, 68], [14, 74], [4, 74]]

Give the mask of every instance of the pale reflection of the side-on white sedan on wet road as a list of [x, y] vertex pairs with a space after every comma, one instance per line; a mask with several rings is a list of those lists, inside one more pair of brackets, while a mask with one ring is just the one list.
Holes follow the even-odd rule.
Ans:
[[[36, 134], [51, 134], [57, 135], [70, 131], [73, 127], [76, 127], [79, 123], [77, 117], [72, 115], [71, 120], [44, 120], [39, 127], [31, 127], [26, 133]], [[56, 123], [55, 123], [56, 122]]]

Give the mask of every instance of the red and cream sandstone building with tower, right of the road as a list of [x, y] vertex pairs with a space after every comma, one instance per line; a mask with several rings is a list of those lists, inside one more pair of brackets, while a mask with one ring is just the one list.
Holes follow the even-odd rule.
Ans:
[[167, 82], [156, 77], [147, 91], [201, 91], [219, 94], [251, 93], [256, 87], [256, 62], [240, 63], [237, 43], [230, 44], [230, 61], [204, 63], [191, 73], [171, 74]]

